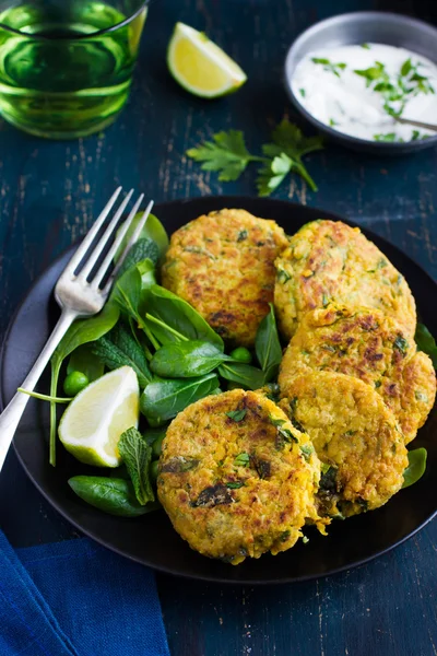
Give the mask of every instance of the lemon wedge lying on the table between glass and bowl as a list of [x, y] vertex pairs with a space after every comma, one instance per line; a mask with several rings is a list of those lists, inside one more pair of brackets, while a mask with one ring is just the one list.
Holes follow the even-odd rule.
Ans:
[[167, 66], [184, 89], [203, 98], [237, 91], [246, 73], [203, 32], [176, 23], [168, 44]]

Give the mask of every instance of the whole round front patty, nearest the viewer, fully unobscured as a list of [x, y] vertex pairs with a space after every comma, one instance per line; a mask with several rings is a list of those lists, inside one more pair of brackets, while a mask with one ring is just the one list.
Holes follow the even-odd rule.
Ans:
[[307, 435], [264, 396], [234, 389], [180, 412], [157, 491], [174, 528], [203, 555], [238, 564], [285, 551], [315, 509], [320, 462]]

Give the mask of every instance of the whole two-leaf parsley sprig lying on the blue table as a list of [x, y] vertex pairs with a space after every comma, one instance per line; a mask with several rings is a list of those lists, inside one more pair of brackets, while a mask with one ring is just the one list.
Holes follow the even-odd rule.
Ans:
[[218, 180], [237, 180], [250, 162], [260, 162], [257, 189], [259, 196], [270, 196], [288, 173], [297, 173], [312, 191], [317, 186], [302, 159], [323, 148], [321, 137], [305, 137], [302, 130], [284, 118], [272, 131], [272, 141], [262, 145], [262, 156], [252, 155], [246, 148], [240, 130], [213, 134], [212, 141], [191, 148], [187, 155], [201, 162], [203, 171], [218, 172]]

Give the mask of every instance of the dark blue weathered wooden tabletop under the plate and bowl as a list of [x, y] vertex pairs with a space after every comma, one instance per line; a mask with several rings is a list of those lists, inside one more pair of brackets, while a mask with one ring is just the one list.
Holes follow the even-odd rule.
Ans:
[[[293, 117], [282, 85], [291, 42], [317, 20], [363, 9], [437, 24], [434, 0], [156, 0], [131, 101], [105, 133], [51, 143], [0, 121], [0, 333], [32, 281], [86, 231], [117, 185], [156, 201], [253, 194], [255, 173], [221, 185], [186, 149], [229, 127], [258, 149], [274, 122]], [[249, 75], [239, 93], [202, 102], [173, 83], [165, 49], [176, 21], [205, 30], [238, 60]], [[318, 194], [293, 179], [280, 198], [349, 215], [437, 278], [437, 150], [381, 160], [329, 147], [308, 166]], [[0, 499], [0, 524], [16, 546], [75, 535], [13, 454]], [[437, 522], [368, 565], [314, 583], [234, 588], [157, 579], [174, 656], [437, 655]]]

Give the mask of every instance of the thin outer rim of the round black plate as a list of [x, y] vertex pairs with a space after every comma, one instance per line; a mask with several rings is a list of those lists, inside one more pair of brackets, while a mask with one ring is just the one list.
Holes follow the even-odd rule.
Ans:
[[[255, 196], [240, 196], [240, 195], [226, 195], [226, 196], [208, 196], [208, 197], [193, 197], [193, 198], [182, 198], [182, 199], [174, 199], [174, 200], [168, 200], [168, 201], [163, 201], [163, 202], [158, 202], [155, 204], [155, 208], [160, 209], [162, 207], [172, 207], [172, 206], [180, 206], [180, 204], [187, 204], [189, 202], [192, 201], [199, 201], [199, 200], [204, 200], [205, 202], [211, 201], [214, 202], [214, 200], [220, 200], [221, 203], [223, 202], [232, 202], [232, 203], [237, 203], [237, 202], [253, 202], [253, 201], [270, 201], [270, 202], [274, 202], [277, 204], [282, 204], [282, 206], [287, 206], [288, 208], [293, 209], [293, 208], [307, 208], [310, 210], [314, 210], [316, 212], [320, 212], [320, 214], [324, 214], [328, 215], [329, 219], [328, 220], [336, 220], [336, 221], [343, 221], [344, 223], [346, 223], [347, 225], [351, 225], [352, 227], [359, 227], [359, 230], [369, 238], [374, 238], [376, 237], [377, 241], [380, 241], [383, 245], [388, 245], [390, 248], [397, 250], [402, 257], [405, 257], [406, 259], [409, 259], [411, 262], [414, 263], [415, 267], [417, 267], [417, 269], [421, 271], [422, 274], [424, 274], [429, 282], [433, 285], [437, 285], [437, 282], [434, 280], [434, 278], [425, 270], [425, 268], [417, 262], [413, 257], [411, 257], [409, 254], [404, 253], [401, 248], [399, 248], [395, 244], [392, 244], [391, 242], [389, 242], [388, 239], [386, 239], [385, 237], [378, 235], [377, 233], [374, 233], [374, 231], [371, 231], [371, 229], [367, 229], [366, 226], [359, 225], [357, 223], [355, 223], [354, 221], [351, 221], [350, 219], [342, 216], [342, 214], [338, 214], [336, 212], [332, 212], [330, 210], [322, 210], [320, 208], [317, 207], [312, 207], [312, 206], [303, 206], [302, 203], [297, 203], [297, 202], [293, 202], [293, 201], [288, 201], [288, 200], [283, 200], [283, 199], [275, 199], [275, 198], [258, 198]], [[1, 342], [1, 348], [0, 348], [0, 411], [3, 411], [5, 403], [4, 403], [4, 389], [2, 386], [2, 376], [3, 376], [3, 362], [4, 362], [4, 352], [7, 350], [8, 347], [8, 342], [10, 339], [10, 335], [12, 331], [12, 328], [15, 324], [15, 320], [19, 316], [19, 314], [21, 313], [23, 306], [25, 305], [28, 296], [32, 294], [33, 290], [42, 282], [42, 280], [45, 278], [45, 276], [47, 274], [47, 271], [49, 269], [51, 269], [52, 267], [56, 267], [56, 265], [61, 261], [66, 255], [69, 251], [73, 251], [73, 249], [78, 246], [78, 244], [81, 242], [81, 239], [78, 239], [76, 242], [70, 244], [70, 246], [68, 246], [66, 249], [62, 250], [62, 253], [60, 253], [47, 267], [45, 267], [45, 269], [38, 274], [38, 277], [33, 281], [32, 285], [27, 289], [26, 293], [23, 295], [23, 297], [20, 300], [20, 303], [17, 304], [15, 311], [12, 313], [12, 316], [8, 323], [7, 329], [4, 331], [4, 336]], [[287, 577], [285, 576], [284, 578], [277, 579], [277, 578], [262, 578], [262, 579], [257, 579], [257, 578], [245, 578], [241, 581], [238, 579], [229, 579], [229, 578], [225, 578], [221, 575], [218, 576], [209, 576], [208, 574], [187, 574], [180, 571], [175, 571], [168, 566], [165, 565], [156, 565], [156, 564], [152, 564], [149, 562], [144, 562], [144, 560], [137, 558], [135, 555], [132, 555], [131, 553], [128, 553], [126, 551], [123, 551], [122, 549], [119, 549], [110, 543], [108, 543], [105, 539], [99, 538], [98, 536], [94, 535], [90, 529], [87, 528], [83, 528], [74, 518], [72, 518], [67, 511], [64, 511], [59, 504], [58, 502], [51, 499], [51, 496], [46, 493], [46, 491], [42, 488], [42, 485], [34, 479], [33, 475], [31, 473], [31, 471], [28, 470], [26, 464], [24, 462], [23, 458], [20, 455], [19, 448], [15, 445], [15, 440], [13, 440], [12, 442], [13, 448], [14, 448], [14, 453], [17, 457], [17, 460], [21, 465], [21, 467], [23, 468], [25, 475], [27, 476], [27, 478], [31, 480], [31, 482], [33, 483], [33, 485], [38, 490], [38, 492], [44, 496], [44, 499], [49, 503], [49, 505], [55, 508], [55, 511], [57, 513], [59, 513], [61, 515], [61, 517], [63, 517], [71, 526], [73, 526], [74, 528], [76, 528], [81, 534], [83, 534], [84, 536], [86, 536], [87, 538], [96, 541], [98, 544], [105, 547], [106, 549], [109, 549], [110, 551], [113, 551], [114, 553], [117, 553], [118, 555], [121, 555], [122, 558], [127, 558], [128, 560], [130, 560], [131, 562], [135, 562], [141, 564], [142, 566], [146, 566], [146, 567], [151, 567], [152, 570], [154, 570], [155, 572], [158, 573], [163, 573], [163, 574], [167, 574], [167, 575], [172, 575], [172, 576], [177, 576], [180, 578], [185, 578], [185, 579], [189, 579], [189, 581], [202, 581], [205, 583], [213, 583], [213, 584], [220, 584], [220, 585], [226, 585], [226, 586], [244, 586], [244, 585], [252, 585], [252, 586], [262, 586], [262, 585], [285, 585], [285, 584], [298, 584], [298, 583], [306, 583], [309, 581], [316, 581], [319, 578], [326, 578], [327, 576], [335, 576], [338, 574], [341, 574], [342, 572], [346, 572], [350, 570], [355, 570], [357, 567], [361, 567], [374, 560], [376, 560], [377, 558], [380, 558], [382, 555], [386, 555], [387, 553], [389, 553], [390, 551], [392, 551], [393, 549], [395, 549], [397, 547], [400, 547], [401, 544], [403, 544], [404, 542], [406, 542], [408, 540], [410, 540], [411, 538], [413, 538], [418, 531], [421, 531], [423, 528], [425, 528], [425, 526], [427, 526], [434, 518], [436, 518], [437, 516], [437, 507], [436, 509], [426, 518], [422, 522], [422, 524], [420, 524], [413, 531], [409, 532], [406, 536], [402, 537], [401, 539], [397, 540], [395, 542], [393, 542], [392, 544], [390, 544], [389, 547], [377, 551], [376, 553], [370, 554], [367, 558], [363, 558], [361, 560], [354, 561], [353, 563], [350, 564], [345, 564], [345, 565], [341, 565], [339, 567], [334, 567], [332, 570], [330, 570], [329, 572], [322, 572], [319, 574], [307, 574], [307, 575], [303, 575], [299, 576], [298, 578], [296, 578], [295, 576], [293, 577]], [[74, 539], [74, 538], [72, 538]], [[78, 539], [78, 538], [75, 538]]]

